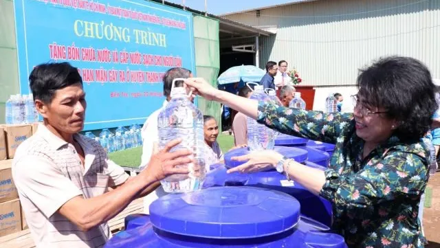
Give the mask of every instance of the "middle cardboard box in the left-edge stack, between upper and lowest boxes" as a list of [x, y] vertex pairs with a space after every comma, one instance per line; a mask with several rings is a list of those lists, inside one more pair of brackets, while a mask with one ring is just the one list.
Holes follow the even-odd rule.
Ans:
[[12, 179], [12, 159], [0, 161], [0, 203], [19, 198]]

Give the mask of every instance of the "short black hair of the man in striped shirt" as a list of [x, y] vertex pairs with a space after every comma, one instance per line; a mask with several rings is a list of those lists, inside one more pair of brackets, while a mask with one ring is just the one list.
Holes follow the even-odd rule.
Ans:
[[78, 68], [67, 62], [37, 65], [29, 76], [29, 86], [34, 100], [38, 99], [44, 103], [52, 102], [56, 90], [77, 83], [83, 85]]

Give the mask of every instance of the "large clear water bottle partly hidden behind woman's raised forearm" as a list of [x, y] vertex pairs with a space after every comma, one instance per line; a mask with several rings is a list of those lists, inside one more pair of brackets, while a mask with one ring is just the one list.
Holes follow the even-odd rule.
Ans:
[[[248, 82], [248, 87], [252, 90]], [[264, 92], [263, 85], [256, 84], [254, 93], [250, 99], [259, 100], [263, 102], [271, 102], [270, 98]], [[248, 146], [250, 150], [272, 150], [275, 146], [275, 131], [267, 128], [263, 124], [259, 124], [256, 120], [247, 117], [248, 120]]]

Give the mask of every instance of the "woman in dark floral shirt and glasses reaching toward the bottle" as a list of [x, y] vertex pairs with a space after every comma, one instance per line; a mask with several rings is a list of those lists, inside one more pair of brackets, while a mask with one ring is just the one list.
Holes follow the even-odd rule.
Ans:
[[264, 104], [220, 92], [200, 78], [186, 84], [282, 133], [336, 144], [325, 171], [267, 150], [236, 158], [247, 162], [230, 172], [268, 166], [285, 172], [332, 203], [333, 230], [349, 247], [423, 247], [417, 214], [429, 148], [421, 138], [437, 103], [430, 71], [418, 60], [383, 58], [361, 71], [353, 114]]

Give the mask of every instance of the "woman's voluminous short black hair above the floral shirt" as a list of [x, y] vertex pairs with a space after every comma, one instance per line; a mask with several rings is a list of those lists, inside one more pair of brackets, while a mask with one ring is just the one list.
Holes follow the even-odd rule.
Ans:
[[380, 58], [360, 70], [358, 87], [365, 106], [383, 107], [399, 122], [395, 135], [418, 140], [430, 129], [437, 110], [435, 85], [426, 65], [415, 58]]

